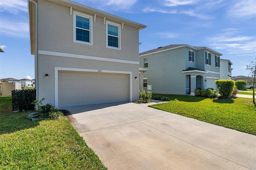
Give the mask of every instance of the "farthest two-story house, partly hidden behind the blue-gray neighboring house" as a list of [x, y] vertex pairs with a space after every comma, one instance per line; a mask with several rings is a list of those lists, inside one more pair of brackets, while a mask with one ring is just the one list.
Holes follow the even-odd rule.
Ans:
[[220, 79], [232, 79], [233, 63], [229, 59], [220, 59]]

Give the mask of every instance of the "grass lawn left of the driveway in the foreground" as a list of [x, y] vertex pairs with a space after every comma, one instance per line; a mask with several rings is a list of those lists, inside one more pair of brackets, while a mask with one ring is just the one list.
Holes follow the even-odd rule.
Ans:
[[66, 118], [30, 121], [10, 101], [0, 97], [0, 169], [107, 169]]

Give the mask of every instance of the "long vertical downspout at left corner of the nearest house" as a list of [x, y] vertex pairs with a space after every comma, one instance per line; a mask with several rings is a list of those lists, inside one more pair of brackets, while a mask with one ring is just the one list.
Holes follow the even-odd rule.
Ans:
[[36, 55], [36, 100], [38, 101], [38, 4], [34, 0], [28, 0], [28, 2], [33, 2], [36, 5], [36, 45], [35, 45], [35, 55]]

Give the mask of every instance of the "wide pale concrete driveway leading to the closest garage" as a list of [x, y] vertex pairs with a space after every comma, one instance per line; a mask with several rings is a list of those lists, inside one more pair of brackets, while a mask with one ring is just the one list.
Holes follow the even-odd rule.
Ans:
[[256, 136], [148, 105], [68, 107], [66, 117], [110, 170], [256, 169]]

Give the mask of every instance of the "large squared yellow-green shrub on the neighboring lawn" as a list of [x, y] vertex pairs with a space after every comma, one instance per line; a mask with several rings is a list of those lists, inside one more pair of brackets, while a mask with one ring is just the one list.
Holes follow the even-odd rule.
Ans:
[[222, 97], [230, 97], [235, 87], [234, 80], [215, 80], [218, 92]]

